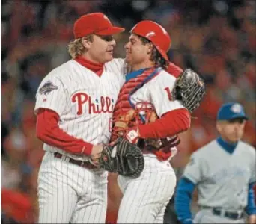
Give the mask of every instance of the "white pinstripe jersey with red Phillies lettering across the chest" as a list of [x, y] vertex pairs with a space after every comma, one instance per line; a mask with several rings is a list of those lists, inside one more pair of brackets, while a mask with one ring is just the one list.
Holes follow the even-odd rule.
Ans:
[[[112, 111], [124, 84], [124, 59], [105, 63], [99, 77], [90, 69], [69, 60], [43, 78], [37, 90], [36, 105], [48, 108], [60, 116], [59, 128], [88, 143], [109, 143]], [[43, 149], [60, 152], [76, 160], [86, 161], [86, 155], [74, 155], [44, 143]]]

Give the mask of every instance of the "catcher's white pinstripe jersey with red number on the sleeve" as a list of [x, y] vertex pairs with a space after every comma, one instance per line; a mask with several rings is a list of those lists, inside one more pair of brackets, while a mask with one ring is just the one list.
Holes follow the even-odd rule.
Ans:
[[[174, 75], [170, 75], [168, 72], [165, 72], [165, 70], [161, 70], [158, 75], [132, 94], [131, 101], [133, 104], [138, 102], [150, 102], [159, 117], [168, 111], [185, 108], [181, 101], [171, 98], [171, 91], [174, 88], [175, 81], [176, 78]], [[172, 158], [177, 153], [176, 147], [171, 148], [171, 152]]]

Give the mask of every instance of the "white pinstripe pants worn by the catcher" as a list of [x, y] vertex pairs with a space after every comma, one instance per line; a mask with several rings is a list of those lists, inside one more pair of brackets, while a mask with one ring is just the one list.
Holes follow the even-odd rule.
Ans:
[[124, 193], [118, 223], [163, 223], [165, 208], [176, 186], [176, 175], [168, 161], [158, 161], [151, 155], [144, 158], [145, 167], [139, 178], [118, 176]]

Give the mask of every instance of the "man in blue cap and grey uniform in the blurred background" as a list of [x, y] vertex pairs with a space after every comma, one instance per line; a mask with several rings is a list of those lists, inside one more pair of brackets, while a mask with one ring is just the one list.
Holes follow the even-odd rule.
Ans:
[[[181, 223], [245, 223], [245, 212], [249, 223], [256, 223], [256, 153], [240, 140], [247, 119], [238, 103], [219, 109], [220, 136], [192, 154], [177, 185], [174, 208]], [[193, 219], [189, 205], [195, 187], [199, 211]]]

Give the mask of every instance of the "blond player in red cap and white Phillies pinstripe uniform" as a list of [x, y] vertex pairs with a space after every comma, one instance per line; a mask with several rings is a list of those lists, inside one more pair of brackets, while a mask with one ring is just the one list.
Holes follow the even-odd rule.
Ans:
[[106, 218], [107, 172], [95, 164], [109, 143], [112, 110], [124, 83], [124, 60], [113, 59], [112, 36], [124, 29], [103, 13], [91, 13], [73, 31], [73, 59], [49, 72], [37, 90], [37, 137], [46, 151], [38, 175], [39, 223]]

